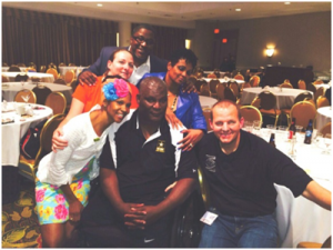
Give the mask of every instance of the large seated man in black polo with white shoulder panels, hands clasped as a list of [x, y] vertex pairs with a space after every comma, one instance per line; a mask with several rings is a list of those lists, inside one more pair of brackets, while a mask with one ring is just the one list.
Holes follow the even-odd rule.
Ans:
[[145, 78], [138, 103], [130, 120], [115, 133], [109, 132], [100, 157], [103, 192], [82, 214], [83, 230], [98, 242], [91, 247], [168, 248], [172, 211], [195, 186], [194, 151], [178, 148], [183, 134], [164, 118], [165, 83], [157, 77]]

